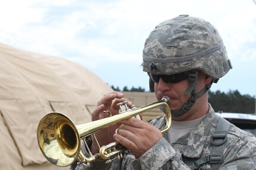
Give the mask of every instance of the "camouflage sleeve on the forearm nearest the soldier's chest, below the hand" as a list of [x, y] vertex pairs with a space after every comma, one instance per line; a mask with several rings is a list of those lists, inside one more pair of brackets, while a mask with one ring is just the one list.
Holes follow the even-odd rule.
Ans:
[[133, 169], [189, 169], [181, 161], [181, 153], [176, 152], [164, 138], [132, 162], [132, 166]]

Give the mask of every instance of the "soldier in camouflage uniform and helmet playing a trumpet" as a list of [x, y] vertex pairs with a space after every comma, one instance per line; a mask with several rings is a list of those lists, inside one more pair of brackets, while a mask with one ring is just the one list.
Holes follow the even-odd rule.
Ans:
[[[172, 127], [160, 132], [164, 116], [150, 123], [136, 118], [121, 121], [121, 126], [96, 135], [100, 145], [116, 140], [127, 147], [122, 159], [108, 165], [95, 161], [91, 167], [74, 164], [71, 169], [256, 169], [256, 137], [214, 114], [208, 104], [211, 84], [230, 69], [222, 38], [207, 21], [179, 15], [160, 23], [144, 44], [143, 70], [157, 100], [170, 98]], [[116, 104], [123, 97], [120, 92], [106, 94], [92, 120], [108, 117], [105, 110], [117, 114]], [[93, 137], [88, 144], [98, 152]]]

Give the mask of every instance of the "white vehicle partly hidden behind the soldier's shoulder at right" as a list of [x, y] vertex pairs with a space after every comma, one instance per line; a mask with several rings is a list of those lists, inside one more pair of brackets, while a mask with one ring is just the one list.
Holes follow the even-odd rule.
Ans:
[[245, 113], [216, 113], [242, 130], [256, 135], [256, 115]]

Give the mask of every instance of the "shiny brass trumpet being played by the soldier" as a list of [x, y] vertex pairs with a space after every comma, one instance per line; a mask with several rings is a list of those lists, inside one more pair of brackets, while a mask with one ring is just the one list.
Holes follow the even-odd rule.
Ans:
[[[81, 140], [94, 136], [97, 131], [116, 124], [120, 120], [138, 116], [138, 114], [156, 107], [160, 107], [166, 114], [166, 126], [161, 129], [163, 133], [170, 128], [171, 124], [169, 102], [170, 99], [166, 96], [160, 101], [138, 108], [129, 108], [125, 102], [122, 102], [119, 104], [119, 114], [77, 126], [65, 114], [48, 113], [40, 120], [37, 127], [37, 142], [45, 158], [56, 166], [69, 166], [75, 161], [90, 166], [97, 159], [103, 159], [106, 160], [106, 163], [110, 163], [113, 159], [121, 159], [122, 152], [127, 149], [118, 142], [112, 142], [102, 147], [99, 146], [99, 153], [92, 155], [89, 146], [84, 141], [89, 152], [89, 156], [85, 156], [81, 152]], [[122, 105], [125, 105], [125, 110], [122, 110]]]

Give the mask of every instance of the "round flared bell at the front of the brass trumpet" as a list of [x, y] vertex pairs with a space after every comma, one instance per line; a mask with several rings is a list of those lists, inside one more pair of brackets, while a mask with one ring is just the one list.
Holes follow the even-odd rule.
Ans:
[[81, 147], [77, 128], [61, 113], [49, 113], [40, 120], [37, 141], [45, 158], [56, 166], [71, 165]]

